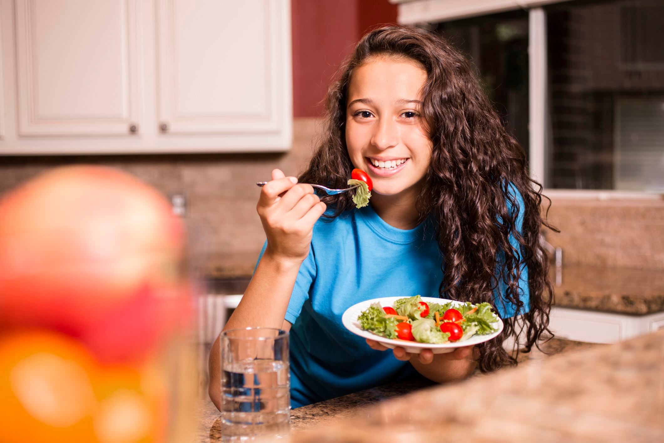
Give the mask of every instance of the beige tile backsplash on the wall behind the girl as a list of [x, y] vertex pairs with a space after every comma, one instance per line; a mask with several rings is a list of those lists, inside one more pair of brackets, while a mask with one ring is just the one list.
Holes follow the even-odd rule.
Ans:
[[[0, 194], [54, 166], [118, 167], [165, 195], [185, 193], [195, 258], [210, 276], [250, 276], [265, 241], [258, 188], [275, 167], [297, 175], [313, 149], [321, 120], [296, 118], [288, 153], [0, 157]], [[586, 264], [664, 270], [664, 200], [552, 198], [549, 221], [562, 232], [547, 240], [564, 266]]]

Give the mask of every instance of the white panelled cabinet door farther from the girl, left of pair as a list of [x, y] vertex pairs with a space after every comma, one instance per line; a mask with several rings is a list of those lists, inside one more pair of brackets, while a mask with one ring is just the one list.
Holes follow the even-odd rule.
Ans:
[[19, 137], [139, 129], [136, 0], [17, 0]]

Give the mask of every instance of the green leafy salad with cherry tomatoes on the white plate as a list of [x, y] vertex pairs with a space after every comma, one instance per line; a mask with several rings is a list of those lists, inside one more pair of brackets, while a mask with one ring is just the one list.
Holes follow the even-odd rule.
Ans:
[[373, 303], [357, 319], [362, 329], [376, 335], [420, 343], [464, 341], [498, 330], [498, 316], [489, 303], [426, 303], [420, 296], [400, 298], [391, 307]]

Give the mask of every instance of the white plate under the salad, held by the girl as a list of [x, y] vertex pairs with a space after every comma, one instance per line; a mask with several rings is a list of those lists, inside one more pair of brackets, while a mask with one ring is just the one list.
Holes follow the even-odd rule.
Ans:
[[[431, 349], [434, 352], [434, 354], [444, 354], [452, 352], [457, 347], [477, 345], [478, 343], [489, 341], [493, 337], [496, 337], [503, 330], [503, 321], [499, 318], [496, 323], [493, 323], [493, 326], [498, 327], [498, 330], [495, 331], [494, 333], [486, 335], [475, 334], [469, 339], [464, 341], [454, 341], [450, 343], [434, 344], [434, 343], [418, 343], [417, 341], [409, 341], [402, 339], [388, 339], [362, 329], [360, 322], [357, 321], [357, 317], [359, 317], [362, 311], [366, 310], [367, 308], [369, 308], [369, 306], [371, 306], [372, 303], [376, 302], [380, 303], [380, 306], [382, 306], [383, 308], [386, 306], [392, 306], [392, 304], [394, 304], [394, 302], [400, 298], [403, 297], [374, 298], [372, 300], [366, 300], [365, 302], [360, 302], [348, 308], [341, 316], [341, 321], [343, 322], [343, 325], [346, 327], [346, 329], [348, 329], [354, 334], [359, 335], [360, 337], [365, 337], [367, 339], [378, 341], [380, 342], [380, 344], [390, 349], [394, 349], [394, 347], [400, 346], [406, 349], [406, 352], [410, 352], [413, 354], [419, 354], [420, 352], [422, 352], [422, 349]], [[455, 305], [463, 304], [463, 302], [455, 302], [454, 300], [446, 300], [444, 298], [434, 298], [434, 297], [422, 297], [422, 302], [438, 303], [438, 304], [446, 304], [447, 302], [452, 302]]]

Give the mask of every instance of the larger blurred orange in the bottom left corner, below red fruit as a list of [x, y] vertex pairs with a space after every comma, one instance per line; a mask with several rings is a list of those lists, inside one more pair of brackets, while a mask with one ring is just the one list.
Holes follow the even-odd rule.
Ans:
[[0, 336], [0, 441], [94, 441], [96, 364], [79, 343], [46, 331]]

